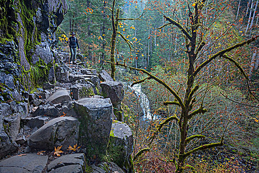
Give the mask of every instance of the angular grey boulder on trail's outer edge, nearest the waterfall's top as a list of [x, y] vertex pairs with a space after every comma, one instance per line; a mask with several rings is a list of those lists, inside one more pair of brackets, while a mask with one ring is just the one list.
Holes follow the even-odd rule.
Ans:
[[101, 83], [102, 93], [105, 98], [111, 98], [112, 105], [117, 108], [124, 98], [124, 89], [121, 83], [108, 81]]

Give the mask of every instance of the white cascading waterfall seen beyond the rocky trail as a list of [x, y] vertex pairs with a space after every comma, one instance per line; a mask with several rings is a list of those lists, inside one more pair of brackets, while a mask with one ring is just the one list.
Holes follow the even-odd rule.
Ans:
[[140, 98], [140, 106], [143, 110], [145, 118], [148, 120], [152, 120], [153, 115], [150, 112], [148, 97], [141, 91], [141, 85], [136, 84], [131, 88], [134, 90], [135, 94]]

